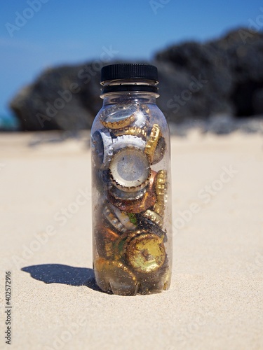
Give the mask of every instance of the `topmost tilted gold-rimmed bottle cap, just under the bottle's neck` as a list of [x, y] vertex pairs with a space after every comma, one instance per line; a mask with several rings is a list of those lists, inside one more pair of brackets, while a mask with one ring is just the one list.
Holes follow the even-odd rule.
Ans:
[[[123, 127], [128, 127], [133, 124], [136, 111], [137, 106], [133, 105], [126, 106], [126, 109], [116, 109], [112, 107], [111, 109], [106, 109], [104, 113], [101, 114], [100, 121], [107, 129], [122, 129]], [[107, 116], [105, 116], [106, 113]]]

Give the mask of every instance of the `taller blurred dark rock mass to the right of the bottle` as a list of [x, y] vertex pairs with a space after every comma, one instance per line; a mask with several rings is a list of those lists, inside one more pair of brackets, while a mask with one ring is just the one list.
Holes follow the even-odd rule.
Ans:
[[[164, 76], [161, 69], [165, 83], [160, 87], [159, 101], [170, 120], [263, 113], [263, 34], [260, 32], [252, 34], [238, 29], [208, 43], [175, 45], [157, 53], [156, 62], [172, 67]], [[192, 83], [194, 79], [202, 82], [199, 90]]]

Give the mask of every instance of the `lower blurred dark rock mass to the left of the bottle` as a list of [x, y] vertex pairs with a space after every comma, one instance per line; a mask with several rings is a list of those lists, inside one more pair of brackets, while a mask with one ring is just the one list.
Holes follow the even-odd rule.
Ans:
[[100, 105], [100, 73], [83, 64], [44, 71], [20, 90], [11, 109], [22, 130], [81, 130], [91, 126]]

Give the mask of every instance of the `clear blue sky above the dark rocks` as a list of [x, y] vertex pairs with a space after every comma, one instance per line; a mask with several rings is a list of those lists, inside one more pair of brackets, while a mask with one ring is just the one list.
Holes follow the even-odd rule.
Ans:
[[105, 48], [140, 62], [175, 43], [248, 27], [262, 14], [259, 0], [1, 1], [0, 115], [49, 66], [99, 59]]

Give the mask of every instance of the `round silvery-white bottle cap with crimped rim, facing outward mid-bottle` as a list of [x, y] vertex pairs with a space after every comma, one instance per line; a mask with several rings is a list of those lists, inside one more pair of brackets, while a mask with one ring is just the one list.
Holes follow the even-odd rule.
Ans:
[[115, 186], [126, 192], [136, 192], [147, 186], [151, 174], [147, 156], [131, 146], [114, 154], [109, 171]]

